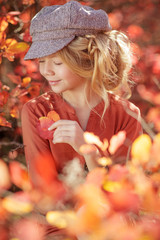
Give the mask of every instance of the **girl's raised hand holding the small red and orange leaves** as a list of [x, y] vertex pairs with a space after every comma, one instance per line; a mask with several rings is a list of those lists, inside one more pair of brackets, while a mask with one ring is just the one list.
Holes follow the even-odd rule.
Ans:
[[58, 120], [53, 123], [48, 130], [53, 130], [53, 143], [68, 143], [76, 152], [79, 152], [81, 145], [85, 144], [84, 131], [76, 121]]

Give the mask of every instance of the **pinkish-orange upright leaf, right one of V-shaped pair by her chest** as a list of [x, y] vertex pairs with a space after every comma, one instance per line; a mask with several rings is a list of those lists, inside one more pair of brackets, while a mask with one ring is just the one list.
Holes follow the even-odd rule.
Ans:
[[112, 136], [108, 149], [109, 152], [111, 154], [114, 154], [117, 151], [117, 149], [124, 143], [125, 139], [126, 139], [125, 131], [120, 131], [116, 135]]

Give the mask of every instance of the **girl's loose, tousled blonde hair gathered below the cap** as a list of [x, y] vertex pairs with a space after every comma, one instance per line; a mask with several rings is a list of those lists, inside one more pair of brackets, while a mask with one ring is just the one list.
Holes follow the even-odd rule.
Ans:
[[131, 51], [124, 33], [111, 30], [76, 37], [58, 54], [76, 74], [86, 78], [91, 89], [103, 98], [104, 111], [107, 92], [120, 92], [123, 86], [130, 95], [128, 73], [132, 66]]

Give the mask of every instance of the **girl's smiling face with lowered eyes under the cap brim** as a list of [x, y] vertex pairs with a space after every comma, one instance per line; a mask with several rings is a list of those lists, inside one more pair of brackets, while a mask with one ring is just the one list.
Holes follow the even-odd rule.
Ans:
[[39, 70], [55, 93], [84, 89], [85, 80], [71, 71], [58, 55], [40, 58]]

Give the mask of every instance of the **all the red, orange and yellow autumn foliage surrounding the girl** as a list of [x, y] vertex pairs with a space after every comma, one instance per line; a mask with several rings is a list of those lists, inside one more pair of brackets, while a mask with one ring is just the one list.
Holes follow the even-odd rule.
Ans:
[[[100, 167], [89, 173], [77, 159], [57, 179], [49, 164], [46, 179], [36, 189], [28, 178], [21, 133], [24, 103], [47, 91], [36, 61], [24, 61], [31, 36], [31, 18], [43, 6], [65, 0], [0, 0], [0, 239], [42, 240], [45, 227], [37, 222], [35, 209], [46, 214], [46, 222], [61, 229], [63, 239], [158, 240], [160, 236], [160, 2], [80, 1], [109, 13], [113, 29], [131, 39], [133, 69], [131, 100], [140, 108], [144, 134], [135, 140], [125, 166], [113, 165], [112, 154], [121, 147], [125, 132], [108, 142], [85, 133], [81, 152], [91, 154], [95, 146], [103, 153]], [[51, 139], [48, 127], [59, 116], [51, 111], [39, 119], [42, 137]], [[109, 152], [109, 157], [106, 152]], [[49, 156], [46, 162], [49, 163]], [[76, 169], [68, 171], [67, 169]], [[68, 172], [72, 172], [71, 175]], [[59, 191], [52, 191], [52, 188]], [[68, 237], [66, 237], [68, 236]]]

